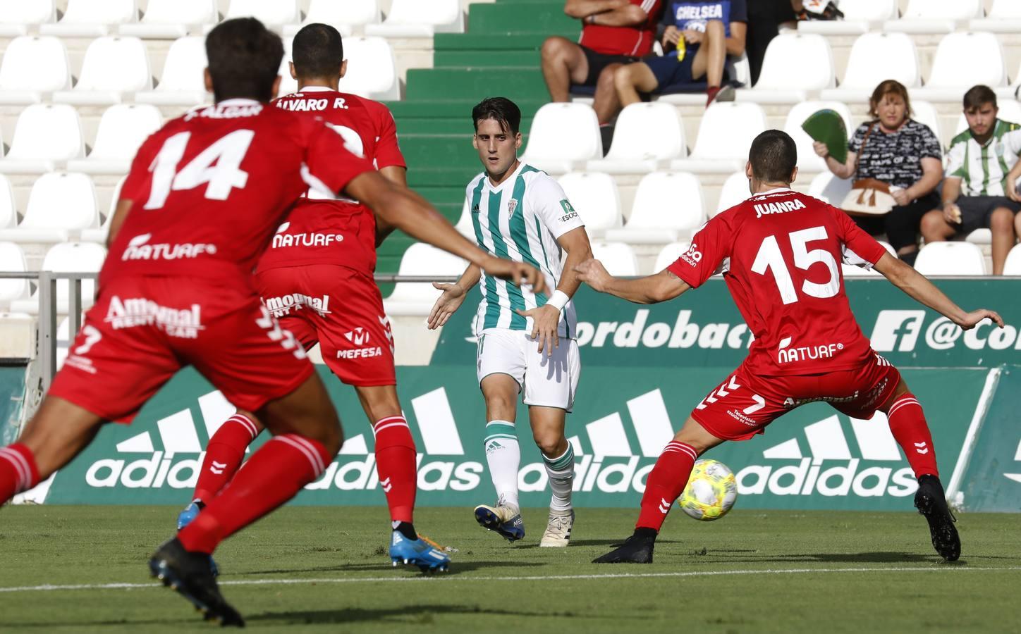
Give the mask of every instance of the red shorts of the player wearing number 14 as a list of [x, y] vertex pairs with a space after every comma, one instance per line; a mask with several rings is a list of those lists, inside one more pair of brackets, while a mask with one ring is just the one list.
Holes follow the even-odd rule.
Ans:
[[189, 364], [253, 412], [314, 371], [245, 280], [121, 277], [101, 288], [49, 394], [131, 422]]

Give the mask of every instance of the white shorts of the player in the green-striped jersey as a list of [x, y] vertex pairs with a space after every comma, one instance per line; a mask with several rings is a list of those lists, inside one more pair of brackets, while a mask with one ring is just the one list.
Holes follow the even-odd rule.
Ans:
[[518, 381], [522, 403], [571, 412], [581, 375], [578, 341], [561, 338], [552, 356], [539, 353], [538, 342], [525, 330], [490, 328], [479, 335], [476, 368], [479, 384], [490, 374]]

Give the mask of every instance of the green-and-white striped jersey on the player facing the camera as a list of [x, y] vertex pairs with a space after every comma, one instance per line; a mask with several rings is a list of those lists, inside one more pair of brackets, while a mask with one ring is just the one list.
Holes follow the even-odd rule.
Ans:
[[[546, 293], [532, 293], [530, 288], [483, 273], [479, 279], [482, 302], [475, 331], [531, 330], [532, 319], [515, 310], [530, 310], [546, 303], [563, 272], [556, 239], [585, 223], [568, 202], [560, 183], [525, 163], [497, 187], [482, 172], [468, 183], [467, 196], [479, 246], [496, 257], [526, 262], [539, 269], [546, 277], [547, 288]], [[577, 324], [574, 303], [568, 302], [561, 312], [560, 336], [574, 338]]]

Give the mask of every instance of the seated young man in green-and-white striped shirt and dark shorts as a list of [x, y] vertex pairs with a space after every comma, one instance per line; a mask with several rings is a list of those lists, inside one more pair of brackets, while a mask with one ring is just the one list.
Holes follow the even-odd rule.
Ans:
[[996, 94], [975, 86], [964, 94], [968, 129], [946, 152], [942, 209], [922, 218], [926, 243], [967, 235], [987, 227], [992, 233], [992, 274], [1002, 275], [1014, 247], [1014, 216], [1021, 203], [1008, 198], [1008, 173], [1021, 152], [1021, 125], [996, 117]]

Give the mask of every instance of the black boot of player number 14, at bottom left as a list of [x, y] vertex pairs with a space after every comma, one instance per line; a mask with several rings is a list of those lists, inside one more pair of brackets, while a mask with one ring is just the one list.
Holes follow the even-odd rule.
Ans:
[[149, 571], [163, 585], [191, 601], [207, 621], [218, 621], [224, 627], [245, 627], [245, 620], [220, 593], [212, 576], [212, 558], [205, 552], [185, 550], [177, 537], [153, 553]]

